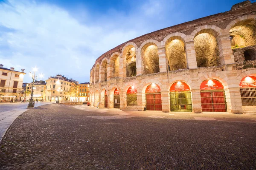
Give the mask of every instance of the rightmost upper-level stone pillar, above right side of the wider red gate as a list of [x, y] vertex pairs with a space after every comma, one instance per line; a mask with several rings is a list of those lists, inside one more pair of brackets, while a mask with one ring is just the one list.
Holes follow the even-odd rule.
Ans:
[[234, 63], [229, 30], [223, 29], [218, 32], [217, 43], [221, 65]]

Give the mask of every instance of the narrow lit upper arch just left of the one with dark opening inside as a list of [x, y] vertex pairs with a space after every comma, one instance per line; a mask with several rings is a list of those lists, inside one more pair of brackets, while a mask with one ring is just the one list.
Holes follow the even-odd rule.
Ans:
[[120, 53], [114, 52], [109, 59], [109, 77], [119, 77], [119, 59]]

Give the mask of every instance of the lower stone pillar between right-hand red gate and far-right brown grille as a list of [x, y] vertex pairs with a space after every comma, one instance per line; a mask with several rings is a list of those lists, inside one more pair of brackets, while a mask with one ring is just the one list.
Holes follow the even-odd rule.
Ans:
[[224, 91], [225, 91], [225, 97], [226, 97], [226, 103], [227, 103], [227, 112], [242, 114], [243, 110], [242, 110], [240, 88], [233, 87], [233, 88], [224, 89]]

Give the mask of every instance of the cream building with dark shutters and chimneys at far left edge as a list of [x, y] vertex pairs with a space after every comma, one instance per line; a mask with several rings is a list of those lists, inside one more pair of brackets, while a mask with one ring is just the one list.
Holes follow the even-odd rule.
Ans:
[[[15, 71], [13, 67], [4, 68], [2, 64], [0, 64], [0, 96], [12, 96], [14, 101], [20, 101], [22, 97], [22, 83], [23, 77], [26, 73], [24, 73], [24, 69], [20, 71]], [[9, 101], [10, 97], [0, 97], [0, 100]]]

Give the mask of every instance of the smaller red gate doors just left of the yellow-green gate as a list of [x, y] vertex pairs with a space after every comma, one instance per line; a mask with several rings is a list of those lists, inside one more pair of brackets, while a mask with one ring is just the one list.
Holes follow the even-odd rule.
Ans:
[[146, 109], [148, 111], [162, 111], [161, 93], [146, 94]]

